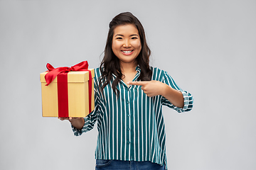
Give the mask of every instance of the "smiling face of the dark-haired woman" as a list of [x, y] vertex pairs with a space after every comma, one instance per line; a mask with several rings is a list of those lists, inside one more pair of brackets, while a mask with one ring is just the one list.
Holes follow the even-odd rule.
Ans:
[[137, 64], [136, 58], [142, 50], [142, 44], [136, 26], [126, 24], [114, 28], [112, 50], [120, 64]]

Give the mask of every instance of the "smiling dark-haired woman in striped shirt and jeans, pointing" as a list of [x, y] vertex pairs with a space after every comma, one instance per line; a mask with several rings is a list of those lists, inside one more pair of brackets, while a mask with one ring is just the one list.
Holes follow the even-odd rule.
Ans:
[[167, 72], [149, 67], [150, 53], [132, 13], [112, 19], [105, 56], [95, 69], [95, 110], [86, 118], [69, 118], [75, 135], [97, 120], [95, 169], [167, 169], [162, 106], [191, 111], [193, 97]]

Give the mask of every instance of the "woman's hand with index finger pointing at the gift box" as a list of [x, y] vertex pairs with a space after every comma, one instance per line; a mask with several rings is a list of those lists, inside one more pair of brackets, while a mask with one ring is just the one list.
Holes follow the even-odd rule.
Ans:
[[167, 84], [162, 83], [161, 81], [129, 81], [127, 84], [142, 86], [142, 90], [146, 96], [154, 97], [158, 95], [164, 96], [164, 91]]

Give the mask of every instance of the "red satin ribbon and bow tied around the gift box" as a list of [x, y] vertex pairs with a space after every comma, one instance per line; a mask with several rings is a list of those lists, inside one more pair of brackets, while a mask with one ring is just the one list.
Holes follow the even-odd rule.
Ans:
[[58, 82], [58, 116], [60, 118], [67, 118], [68, 116], [68, 72], [70, 71], [87, 71], [89, 72], [89, 113], [92, 112], [92, 73], [88, 69], [88, 62], [80, 62], [72, 67], [58, 67], [54, 68], [51, 64], [46, 64], [49, 72], [46, 74], [46, 86], [48, 86], [55, 77]]

